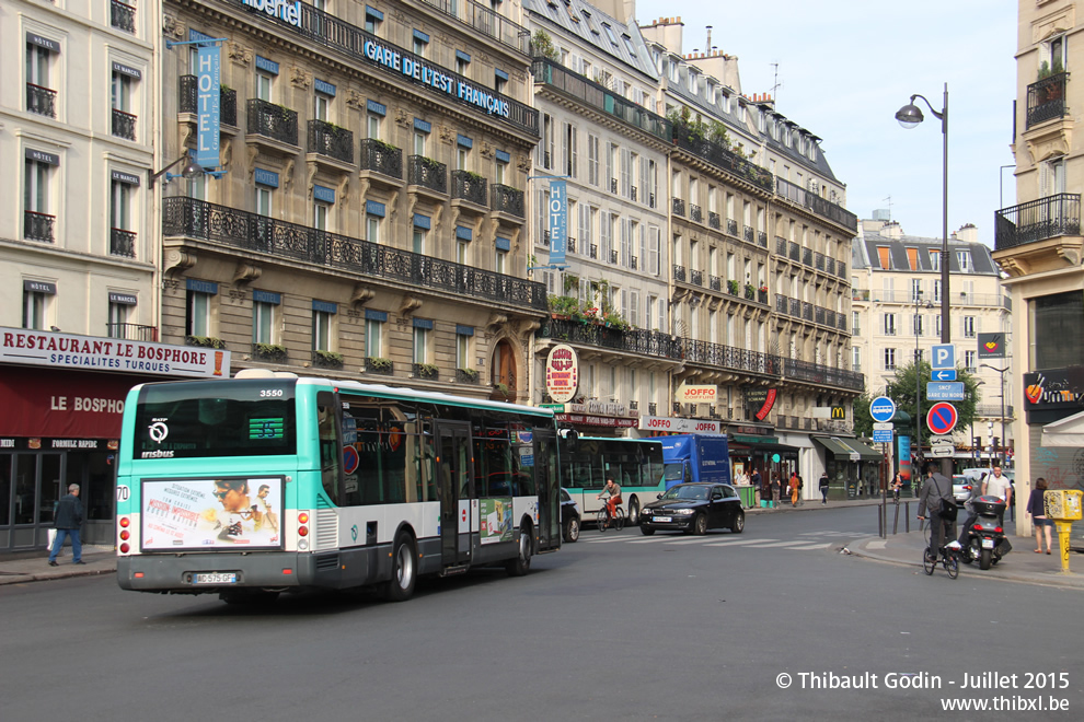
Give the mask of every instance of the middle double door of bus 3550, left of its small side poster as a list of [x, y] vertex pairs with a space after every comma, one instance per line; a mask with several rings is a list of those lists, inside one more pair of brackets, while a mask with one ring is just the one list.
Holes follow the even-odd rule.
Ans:
[[441, 423], [437, 430], [440, 489], [440, 560], [445, 566], [471, 560], [474, 473], [468, 424]]

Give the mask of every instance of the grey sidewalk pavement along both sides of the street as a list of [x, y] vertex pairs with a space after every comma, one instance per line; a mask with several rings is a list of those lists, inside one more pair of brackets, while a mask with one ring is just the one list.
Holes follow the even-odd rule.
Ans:
[[[922, 569], [922, 548], [926, 545], [925, 534], [919, 531], [918, 500], [909, 499], [904, 506], [900, 503], [899, 534], [892, 534], [895, 521], [895, 504], [888, 504], [887, 538], [868, 536], [845, 543], [845, 548], [854, 556], [874, 561], [903, 564]], [[779, 509], [747, 509], [747, 514], [789, 514], [814, 512], [824, 509], [845, 509], [850, 506], [877, 506], [879, 499], [846, 499], [831, 500], [821, 504], [820, 500], [807, 499], [798, 506], [791, 502], [783, 503]], [[910, 533], [903, 532], [904, 513], [911, 514]], [[874, 514], [874, 510], [869, 510]], [[961, 520], [962, 521], [962, 520]], [[1012, 552], [1000, 563], [987, 571], [981, 571], [978, 563], [960, 564], [960, 575], [975, 575], [995, 581], [1024, 582], [1027, 584], [1043, 584], [1084, 590], [1084, 555], [1070, 557], [1071, 572], [1061, 571], [1061, 557], [1057, 552], [1047, 556], [1035, 554], [1035, 537], [1017, 537], [1016, 523], [1006, 520], [1005, 531], [1013, 545]], [[1057, 539], [1057, 535], [1054, 536]], [[841, 542], [841, 544], [844, 544]], [[45, 551], [16, 555], [0, 555], [0, 585], [20, 584], [25, 582], [42, 582], [70, 577], [91, 577], [95, 574], [113, 574], [117, 570], [116, 552], [112, 547], [83, 545], [83, 561], [85, 564], [71, 563], [71, 547], [66, 546], [62, 556], [57, 558], [59, 567], [49, 567], [48, 555]], [[938, 568], [934, 574], [944, 574]]]

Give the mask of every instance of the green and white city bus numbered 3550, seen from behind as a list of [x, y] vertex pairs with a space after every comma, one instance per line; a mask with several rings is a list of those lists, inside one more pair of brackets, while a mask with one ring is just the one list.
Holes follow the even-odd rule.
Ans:
[[123, 589], [228, 602], [503, 564], [561, 543], [547, 409], [242, 371], [141, 384], [117, 478]]

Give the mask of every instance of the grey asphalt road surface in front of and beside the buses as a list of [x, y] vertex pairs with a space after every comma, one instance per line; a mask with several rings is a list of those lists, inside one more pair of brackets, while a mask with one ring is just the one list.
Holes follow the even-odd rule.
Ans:
[[[9, 585], [0, 703], [8, 720], [1080, 718], [1081, 592], [838, 552], [870, 534], [872, 508], [750, 515], [741, 535], [588, 526], [526, 578], [423, 581], [405, 604], [238, 608], [111, 577]], [[959, 690], [991, 672], [1016, 678]], [[1045, 688], [1026, 689], [1036, 673]], [[890, 688], [901, 674], [925, 688]], [[867, 688], [808, 688], [831, 675]], [[1051, 697], [1068, 709], [942, 707]]]

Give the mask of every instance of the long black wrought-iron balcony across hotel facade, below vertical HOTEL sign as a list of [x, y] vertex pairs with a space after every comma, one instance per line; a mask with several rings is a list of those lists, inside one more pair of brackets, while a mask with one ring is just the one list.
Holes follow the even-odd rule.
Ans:
[[[545, 286], [433, 256], [358, 241], [195, 198], [163, 199], [165, 238], [194, 238], [223, 249], [261, 254], [261, 260], [296, 268], [298, 261], [544, 313]], [[176, 245], [166, 241], [166, 245]]]

